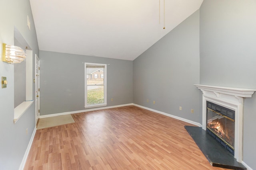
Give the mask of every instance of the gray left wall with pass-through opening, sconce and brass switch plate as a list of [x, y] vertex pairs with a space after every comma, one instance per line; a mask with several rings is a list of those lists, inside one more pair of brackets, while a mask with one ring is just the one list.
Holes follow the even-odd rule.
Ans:
[[[0, 42], [14, 45], [15, 26], [32, 48], [33, 56], [38, 54], [29, 0], [1, 0], [0, 6]], [[27, 27], [27, 15], [30, 17], [31, 31]], [[17, 170], [35, 128], [35, 104], [14, 124], [14, 65], [0, 60], [2, 76], [7, 77], [8, 85], [7, 88], [0, 88], [0, 169]]]

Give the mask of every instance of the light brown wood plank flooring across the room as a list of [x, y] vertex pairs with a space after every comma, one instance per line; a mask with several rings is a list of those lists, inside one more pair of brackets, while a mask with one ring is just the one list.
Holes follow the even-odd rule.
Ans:
[[210, 165], [189, 123], [136, 106], [72, 116], [36, 131], [24, 170], [225, 170]]

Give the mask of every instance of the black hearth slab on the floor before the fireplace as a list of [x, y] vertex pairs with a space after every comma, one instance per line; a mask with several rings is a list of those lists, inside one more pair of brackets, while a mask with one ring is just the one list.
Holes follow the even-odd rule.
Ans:
[[246, 170], [243, 164], [237, 162], [234, 156], [207, 134], [202, 127], [185, 126], [185, 129], [212, 166], [233, 170]]

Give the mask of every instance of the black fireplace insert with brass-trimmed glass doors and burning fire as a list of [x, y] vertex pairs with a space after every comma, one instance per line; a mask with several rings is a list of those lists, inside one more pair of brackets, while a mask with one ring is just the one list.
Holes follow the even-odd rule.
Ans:
[[206, 101], [206, 131], [234, 155], [235, 111]]

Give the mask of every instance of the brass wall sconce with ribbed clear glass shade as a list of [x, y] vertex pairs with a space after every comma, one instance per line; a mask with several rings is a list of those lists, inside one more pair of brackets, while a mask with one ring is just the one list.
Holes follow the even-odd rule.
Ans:
[[21, 63], [27, 57], [22, 48], [3, 43], [2, 61], [6, 63]]

